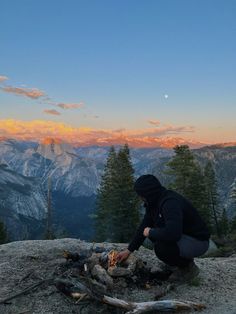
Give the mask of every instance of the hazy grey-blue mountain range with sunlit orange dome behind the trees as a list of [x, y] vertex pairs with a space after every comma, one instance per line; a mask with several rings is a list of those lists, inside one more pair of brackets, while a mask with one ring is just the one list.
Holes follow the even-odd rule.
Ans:
[[[0, 219], [5, 222], [10, 237], [40, 237], [45, 228], [46, 192], [50, 178], [53, 222], [57, 232], [91, 238], [90, 215], [94, 212], [96, 191], [108, 151], [109, 147], [73, 147], [56, 139], [46, 139], [41, 143], [2, 140]], [[135, 176], [153, 173], [164, 185], [168, 183], [164, 170], [174, 154], [173, 150], [131, 148], [130, 151]], [[236, 146], [205, 146], [193, 152], [202, 165], [207, 160], [212, 161], [222, 206], [227, 208], [229, 216], [233, 216], [229, 195], [236, 186]], [[7, 202], [3, 201], [6, 195]], [[32, 230], [32, 226], [38, 227]]]

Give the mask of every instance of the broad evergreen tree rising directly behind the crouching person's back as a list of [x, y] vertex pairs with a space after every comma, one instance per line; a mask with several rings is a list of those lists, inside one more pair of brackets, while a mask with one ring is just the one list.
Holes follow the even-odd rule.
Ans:
[[175, 155], [167, 164], [166, 173], [173, 177], [169, 187], [190, 200], [208, 222], [206, 188], [201, 168], [187, 145], [176, 146], [174, 151]]

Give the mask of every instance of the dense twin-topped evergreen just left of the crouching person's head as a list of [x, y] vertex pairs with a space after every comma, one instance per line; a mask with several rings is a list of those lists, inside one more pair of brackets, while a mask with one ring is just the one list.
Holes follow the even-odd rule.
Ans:
[[139, 221], [133, 173], [128, 146], [125, 145], [118, 153], [111, 147], [97, 195], [97, 240], [130, 240]]

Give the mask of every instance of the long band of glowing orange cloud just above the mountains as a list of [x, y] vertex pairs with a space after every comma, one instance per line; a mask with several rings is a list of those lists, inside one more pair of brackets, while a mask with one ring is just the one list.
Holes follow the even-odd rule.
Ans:
[[[173, 147], [177, 144], [189, 144], [191, 147], [201, 146], [201, 143], [182, 139], [179, 136], [169, 136], [169, 133], [192, 132], [191, 127], [167, 126], [159, 129], [144, 130], [108, 130], [89, 127], [72, 127], [53, 121], [20, 121], [0, 120], [0, 137], [19, 140], [42, 141], [45, 138], [57, 138], [75, 146], [118, 145], [128, 143], [132, 147]], [[159, 132], [159, 133], [158, 133]], [[167, 136], [164, 136], [167, 135]]]

